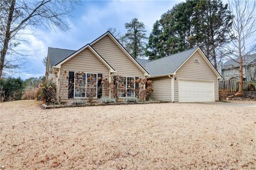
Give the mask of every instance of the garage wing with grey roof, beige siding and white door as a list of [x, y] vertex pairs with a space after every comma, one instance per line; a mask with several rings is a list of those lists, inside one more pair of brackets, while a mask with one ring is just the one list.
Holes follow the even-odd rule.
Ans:
[[219, 100], [218, 79], [221, 75], [199, 47], [154, 61], [137, 61], [153, 80], [156, 100], [215, 101]]

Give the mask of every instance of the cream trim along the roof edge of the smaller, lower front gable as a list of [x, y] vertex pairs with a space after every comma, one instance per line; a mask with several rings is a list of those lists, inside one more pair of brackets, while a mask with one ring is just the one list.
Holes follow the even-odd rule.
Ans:
[[90, 44], [87, 44], [87, 45], [83, 46], [82, 48], [78, 49], [75, 53], [69, 55], [68, 57], [66, 57], [66, 58], [65, 58], [64, 60], [62, 60], [61, 62], [55, 64], [55, 66], [56, 66], [56, 67], [60, 67], [61, 64], [65, 63], [65, 62], [68, 61], [70, 58], [74, 57], [75, 55], [77, 55], [78, 53], [82, 52], [82, 50], [84, 50], [84, 49], [86, 49], [86, 48], [90, 49], [91, 52], [92, 52], [96, 57], [98, 57], [98, 59], [99, 59], [103, 64], [105, 64], [105, 65], [108, 67], [108, 69], [110, 69], [111, 72], [115, 72], [115, 69], [113, 69], [113, 67], [111, 67], [111, 65], [109, 65], [108, 62], [107, 62], [106, 60], [104, 60], [104, 58], [102, 58], [102, 56], [101, 56], [98, 52], [96, 52], [95, 49], [92, 48], [92, 46], [91, 46]]

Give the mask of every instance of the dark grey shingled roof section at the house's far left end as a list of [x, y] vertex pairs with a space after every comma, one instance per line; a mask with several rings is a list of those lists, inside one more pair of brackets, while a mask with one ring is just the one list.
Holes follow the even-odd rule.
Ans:
[[74, 54], [75, 52], [76, 50], [49, 47], [48, 53], [50, 57], [51, 67], [65, 60], [68, 56], [70, 56], [71, 54]]

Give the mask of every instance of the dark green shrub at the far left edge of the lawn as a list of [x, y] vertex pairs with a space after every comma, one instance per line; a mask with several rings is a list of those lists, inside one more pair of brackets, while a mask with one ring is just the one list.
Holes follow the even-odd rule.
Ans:
[[2, 101], [20, 100], [25, 89], [21, 78], [0, 79]]

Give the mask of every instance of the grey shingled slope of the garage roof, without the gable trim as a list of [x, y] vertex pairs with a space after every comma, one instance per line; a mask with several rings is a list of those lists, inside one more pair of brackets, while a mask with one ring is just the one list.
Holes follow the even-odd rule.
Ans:
[[144, 68], [149, 72], [150, 76], [174, 73], [197, 48], [198, 47], [191, 48], [183, 52], [149, 61], [145, 63]]

